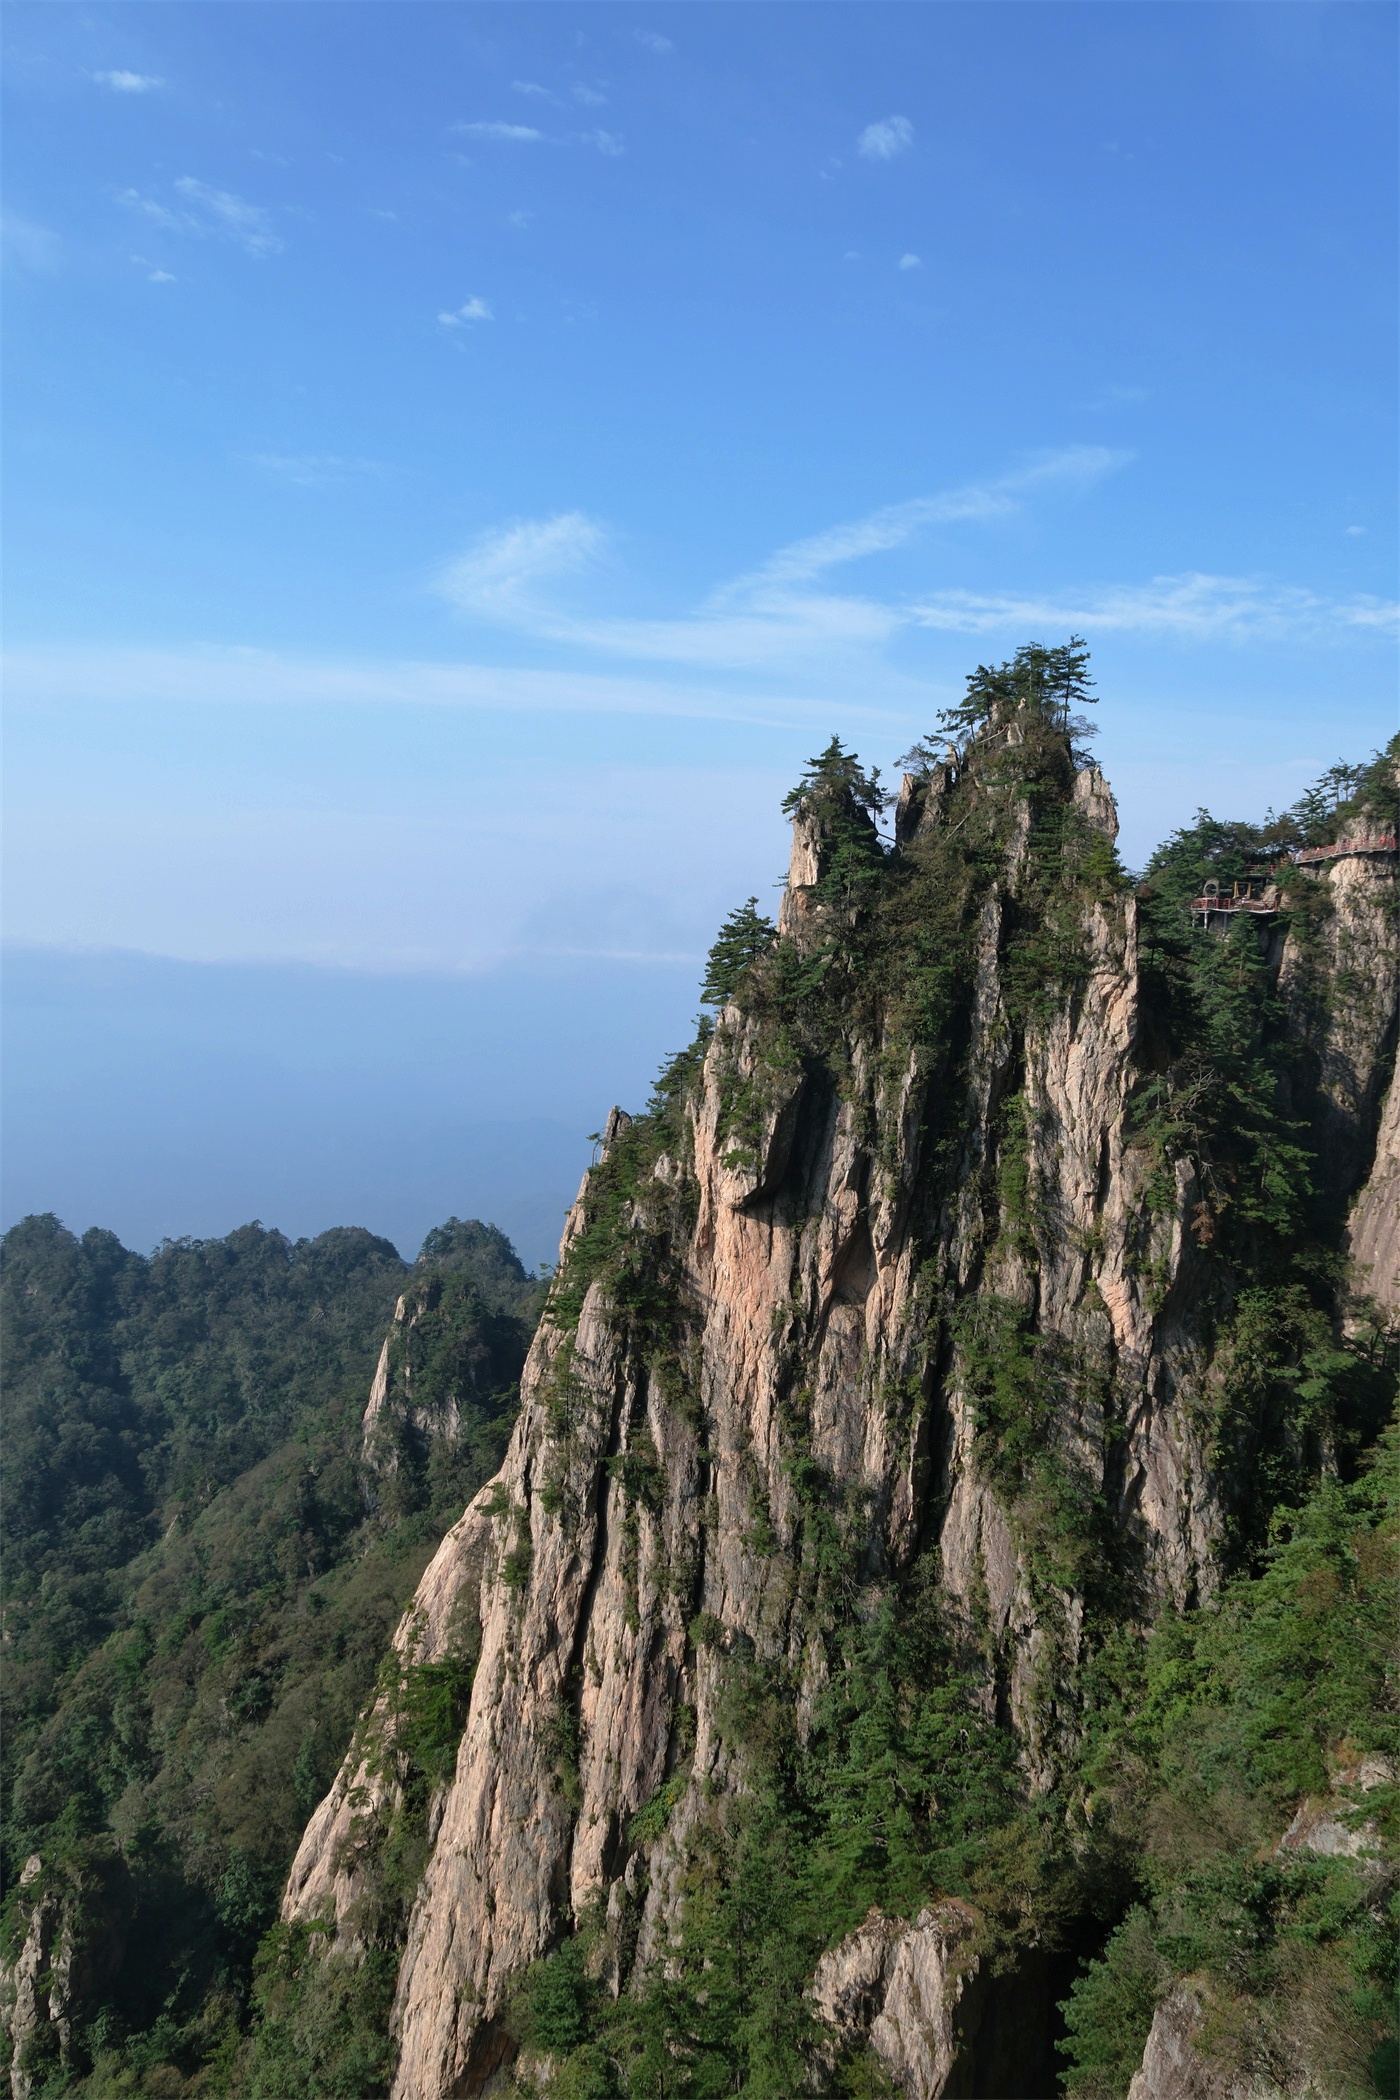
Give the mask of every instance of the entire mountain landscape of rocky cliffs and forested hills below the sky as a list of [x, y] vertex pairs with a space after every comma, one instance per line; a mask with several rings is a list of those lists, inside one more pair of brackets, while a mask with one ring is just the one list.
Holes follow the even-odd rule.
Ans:
[[1087, 685], [810, 762], [548, 1294], [10, 1235], [17, 2100], [1394, 2092], [1400, 739], [1129, 876]]

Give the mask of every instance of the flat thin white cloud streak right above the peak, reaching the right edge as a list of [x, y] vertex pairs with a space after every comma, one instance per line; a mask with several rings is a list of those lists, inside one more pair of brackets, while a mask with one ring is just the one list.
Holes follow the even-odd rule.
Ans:
[[940, 590], [909, 607], [917, 626], [957, 634], [1073, 628], [1173, 640], [1285, 640], [1348, 628], [1387, 634], [1398, 615], [1385, 598], [1327, 598], [1270, 578], [1201, 571], [1062, 594]]

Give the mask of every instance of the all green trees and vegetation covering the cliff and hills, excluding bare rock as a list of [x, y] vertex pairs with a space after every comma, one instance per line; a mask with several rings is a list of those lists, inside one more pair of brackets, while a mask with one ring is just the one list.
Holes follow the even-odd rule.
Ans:
[[[695, 1709], [680, 1709], [667, 1777], [617, 1833], [649, 1854], [674, 1835], [682, 1800], [695, 1819], [674, 1863], [682, 1911], [667, 1959], [609, 1989], [607, 1964], [625, 1968], [636, 1949], [646, 1871], [632, 1871], [621, 1926], [567, 1919], [508, 2010], [527, 2056], [552, 2058], [556, 2100], [787, 2100], [810, 2079], [804, 1984], [823, 1949], [873, 1905], [913, 1915], [934, 1898], [976, 1913], [991, 1989], [1039, 1964], [1045, 2006], [1068, 1993], [1060, 2033], [1077, 2100], [1121, 2100], [1182, 1978], [1207, 2010], [1203, 2045], [1232, 2064], [1282, 2085], [1310, 2066], [1337, 2100], [1394, 2087], [1394, 1875], [1371, 1856], [1280, 1846], [1303, 1798], [1343, 1823], [1371, 1819], [1385, 1842], [1400, 1812], [1385, 1779], [1400, 1758], [1400, 1447], [1385, 1430], [1398, 1338], [1345, 1294], [1345, 1161], [1316, 1052], [1318, 1002], [1362, 993], [1337, 991], [1318, 966], [1282, 998], [1268, 926], [1215, 939], [1192, 928], [1188, 903], [1209, 876], [1236, 880], [1354, 819], [1394, 830], [1396, 748], [1331, 769], [1266, 825], [1201, 813], [1133, 884], [1075, 794], [1085, 704], [1079, 640], [980, 666], [942, 735], [909, 754], [936, 821], [898, 850], [879, 834], [875, 773], [840, 739], [808, 764], [785, 804], [816, 869], [802, 934], [777, 941], [756, 899], [720, 930], [703, 987], [720, 1018], [701, 1021], [644, 1113], [609, 1126], [550, 1285], [563, 1346], [539, 1390], [537, 1493], [569, 1527], [586, 1401], [573, 1334], [596, 1289], [619, 1361], [638, 1386], [651, 1380], [705, 1466], [680, 1260], [699, 1205], [701, 1065], [709, 1056], [724, 1166], [756, 1189], [787, 1117], [762, 1199], [798, 1228], [823, 1186], [812, 1161], [829, 1113], [856, 1105], [873, 1174], [907, 1168], [911, 1147], [917, 1166], [917, 1317], [858, 1376], [896, 1434], [928, 1420], [940, 1390], [966, 1399], [970, 1464], [1007, 1516], [1037, 1613], [1035, 1682], [1018, 1688], [1031, 1741], [1010, 1726], [1014, 1642], [993, 1632], [984, 1592], [968, 1617], [947, 1606], [936, 1464], [921, 1546], [896, 1571], [871, 1546], [865, 1495], [816, 1462], [816, 1334], [793, 1296], [775, 1310], [775, 1344], [791, 1483], [783, 1581], [802, 1661], [760, 1657], [699, 1609], [699, 1550], [686, 1558], [682, 1541], [655, 1571], [718, 1674], [716, 1724], [741, 1783], [701, 1789], [697, 1804]], [[1287, 865], [1276, 880], [1297, 951], [1322, 956], [1324, 890]], [[1131, 1260], [1163, 1306], [1165, 1220], [1186, 1174], [1186, 1317], [1209, 1363], [1188, 1405], [1230, 1497], [1219, 1594], [1154, 1625], [1123, 1520], [1131, 1396], [1102, 1300], [1087, 1285], [1073, 1334], [1049, 1334], [1024, 1281], [1060, 1231], [1035, 1170], [1033, 1046], [1079, 1010], [1096, 960], [1087, 928], [1121, 926], [1133, 890], [1142, 1082], [1125, 1134], [1144, 1199]], [[972, 1144], [974, 1012], [989, 985], [1005, 1060]], [[955, 1205], [961, 1266], [947, 1260]], [[40, 1869], [10, 1896], [8, 1930], [52, 1892], [90, 1945], [141, 1949], [115, 1959], [67, 2066], [36, 2060], [40, 2092], [372, 2100], [390, 2068], [428, 1804], [476, 1663], [466, 1632], [432, 1663], [411, 1648], [384, 1661], [384, 1644], [432, 1541], [495, 1466], [533, 1287], [502, 1235], [458, 1220], [411, 1273], [367, 1235], [288, 1247], [248, 1228], [149, 1264], [52, 1220], [10, 1239], [10, 1522], [23, 1554], [8, 1602], [4, 1844], [10, 1873], [31, 1852]], [[386, 1401], [361, 1453], [359, 1411], [399, 1294]], [[621, 1487], [636, 1575], [638, 1512], [659, 1508], [663, 1485], [649, 1432], [632, 1424], [602, 1464]], [[754, 1554], [777, 1550], [777, 1525], [756, 1474]], [[525, 1588], [529, 1575], [521, 1527], [502, 1579]], [[271, 1905], [376, 1686], [393, 1812], [357, 1863], [351, 1942], [325, 1957], [304, 1926], [269, 1930]], [[577, 1804], [577, 1701], [560, 1697], [550, 1726], [560, 1800]], [[1392, 1766], [1371, 1768], [1381, 1783], [1362, 1800], [1366, 1756]], [[888, 2092], [861, 2050], [833, 2079], [846, 2094]]]

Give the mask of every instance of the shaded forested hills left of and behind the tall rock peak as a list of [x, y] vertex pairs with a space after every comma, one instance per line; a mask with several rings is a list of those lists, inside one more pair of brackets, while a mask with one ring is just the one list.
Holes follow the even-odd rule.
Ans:
[[[55, 2092], [252, 2092], [254, 1951], [428, 1554], [500, 1464], [537, 1285], [502, 1233], [455, 1218], [416, 1266], [357, 1231], [294, 1245], [246, 1226], [143, 1260], [27, 1218], [0, 1287], [4, 1932], [13, 1953], [50, 1903], [90, 1976], [67, 2062], [40, 2048], [34, 2071]], [[393, 1394], [413, 1409], [386, 1411], [367, 1470], [401, 1294]], [[464, 1672], [409, 1670], [399, 1701], [426, 1785], [455, 1751]], [[260, 1957], [258, 2092], [290, 2090], [269, 2064], [304, 1997], [294, 1957]], [[363, 2092], [384, 2020], [340, 2068], [334, 2026], [323, 2090]]]

